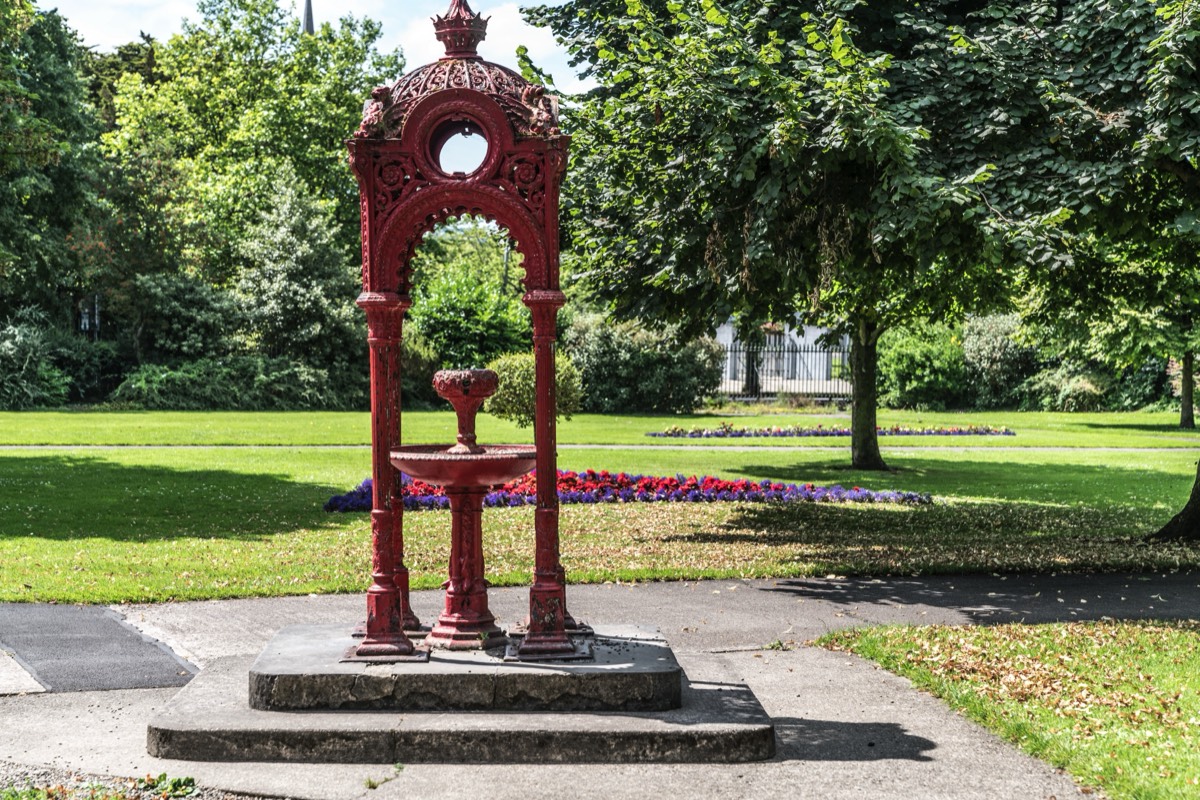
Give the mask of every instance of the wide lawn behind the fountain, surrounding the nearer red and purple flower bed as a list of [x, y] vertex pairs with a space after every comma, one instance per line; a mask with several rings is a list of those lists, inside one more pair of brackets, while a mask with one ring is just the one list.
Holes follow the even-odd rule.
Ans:
[[[1200, 565], [1139, 537], [1182, 505], [1188, 451], [898, 450], [894, 474], [829, 451], [566, 450], [564, 468], [932, 492], [931, 507], [564, 506], [570, 579], [869, 575]], [[366, 515], [324, 501], [368, 474], [328, 447], [0, 450], [0, 601], [158, 601], [361, 591]], [[485, 519], [490, 577], [529, 579], [532, 511]], [[414, 587], [440, 584], [444, 512], [406, 517]]]

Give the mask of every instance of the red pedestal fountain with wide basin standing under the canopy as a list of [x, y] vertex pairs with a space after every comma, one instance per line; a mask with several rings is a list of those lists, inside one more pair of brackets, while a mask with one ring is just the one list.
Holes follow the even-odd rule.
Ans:
[[475, 414], [496, 393], [499, 379], [491, 369], [445, 369], [433, 375], [433, 389], [458, 415], [454, 446], [409, 445], [391, 451], [391, 463], [409, 477], [445, 488], [450, 498], [450, 578], [445, 608], [425, 643], [451, 650], [479, 650], [506, 643], [487, 608], [484, 578], [484, 497], [487, 489], [534, 468], [532, 445], [481, 446], [475, 441]]

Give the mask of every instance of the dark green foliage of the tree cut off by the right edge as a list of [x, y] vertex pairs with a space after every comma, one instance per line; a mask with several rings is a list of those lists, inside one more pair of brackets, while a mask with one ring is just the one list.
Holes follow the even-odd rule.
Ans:
[[1080, 158], [1104, 164], [1097, 201], [1069, 223], [1080, 247], [1026, 275], [1031, 315], [1118, 365], [1182, 365], [1180, 425], [1194, 427], [1200, 345], [1200, 5], [1070, 4], [1056, 31], [1069, 58], [1048, 92]]

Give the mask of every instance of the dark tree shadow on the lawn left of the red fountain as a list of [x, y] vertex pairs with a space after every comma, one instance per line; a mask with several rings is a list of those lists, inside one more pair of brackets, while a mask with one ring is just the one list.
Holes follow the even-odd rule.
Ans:
[[336, 527], [344, 487], [221, 469], [120, 464], [77, 455], [0, 458], [0, 537], [259, 540]]

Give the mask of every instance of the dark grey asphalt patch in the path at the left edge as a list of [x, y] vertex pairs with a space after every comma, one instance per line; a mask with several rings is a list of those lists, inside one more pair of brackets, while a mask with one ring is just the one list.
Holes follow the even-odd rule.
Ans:
[[0, 603], [0, 648], [52, 692], [182, 686], [196, 673], [101, 606]]

